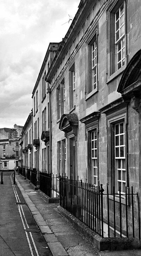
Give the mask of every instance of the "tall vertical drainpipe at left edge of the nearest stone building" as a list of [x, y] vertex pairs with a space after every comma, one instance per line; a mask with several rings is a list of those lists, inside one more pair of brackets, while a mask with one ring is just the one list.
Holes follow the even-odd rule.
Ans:
[[50, 145], [49, 145], [49, 163], [50, 163], [50, 173], [52, 172], [52, 161], [51, 161], [51, 155], [52, 155], [52, 143], [51, 143], [51, 138], [52, 138], [52, 130], [51, 130], [51, 88], [47, 88], [46, 90], [47, 93], [49, 93], [49, 130], [50, 130]]

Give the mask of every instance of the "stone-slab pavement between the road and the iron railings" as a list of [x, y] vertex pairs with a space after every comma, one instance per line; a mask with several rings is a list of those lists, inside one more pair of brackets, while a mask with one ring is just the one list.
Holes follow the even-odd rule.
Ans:
[[53, 256], [141, 256], [141, 250], [98, 251], [60, 214], [58, 203], [47, 203], [44, 193], [17, 173], [16, 183]]

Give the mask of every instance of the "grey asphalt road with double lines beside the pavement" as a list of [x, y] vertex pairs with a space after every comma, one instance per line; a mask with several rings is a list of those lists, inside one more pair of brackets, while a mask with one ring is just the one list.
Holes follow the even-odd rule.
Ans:
[[21, 192], [13, 185], [12, 172], [3, 172], [3, 182], [0, 184], [0, 256], [52, 256]]

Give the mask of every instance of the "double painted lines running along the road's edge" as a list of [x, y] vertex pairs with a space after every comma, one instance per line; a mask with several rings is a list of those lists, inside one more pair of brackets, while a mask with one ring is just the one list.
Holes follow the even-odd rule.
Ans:
[[[13, 187], [13, 191], [14, 191], [14, 194], [15, 194], [16, 201], [17, 201], [17, 203], [21, 203], [21, 201], [20, 201], [20, 199], [19, 199], [19, 196], [18, 196], [18, 193], [17, 193], [17, 190], [16, 190], [16, 188], [15, 188], [15, 185], [13, 184], [12, 174], [10, 175], [10, 179], [11, 179], [11, 183], [12, 183], [12, 187]], [[33, 249], [32, 249], [32, 245], [31, 245], [31, 243], [30, 243], [29, 236], [28, 236], [28, 233], [27, 233], [27, 231], [26, 231], [26, 226], [27, 226], [27, 228], [29, 229], [29, 225], [28, 225], [28, 223], [27, 223], [26, 216], [24, 215], [24, 211], [23, 211], [22, 205], [18, 205], [18, 211], [19, 211], [19, 216], [21, 217], [21, 220], [22, 220], [23, 229], [25, 230], [25, 233], [26, 233], [26, 238], [27, 238], [27, 242], [28, 242], [28, 246], [29, 246], [30, 253], [31, 253], [32, 256], [34, 256], [34, 252], [33, 252]], [[33, 244], [33, 246], [34, 246], [36, 255], [39, 256], [39, 253], [38, 253], [37, 247], [36, 247], [36, 245], [35, 245], [35, 241], [34, 241], [32, 232], [29, 232], [29, 234], [30, 234], [30, 237], [31, 237], [32, 244]]]

